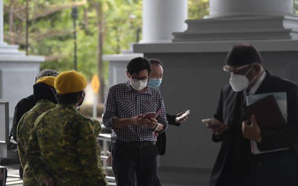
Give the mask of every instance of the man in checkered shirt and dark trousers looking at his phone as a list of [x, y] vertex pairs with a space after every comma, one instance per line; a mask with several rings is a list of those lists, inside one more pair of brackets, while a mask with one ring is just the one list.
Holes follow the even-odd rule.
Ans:
[[[127, 64], [129, 81], [112, 86], [105, 99], [103, 124], [112, 128], [112, 167], [117, 186], [154, 186], [158, 155], [155, 132], [167, 128], [166, 113], [158, 89], [147, 86], [151, 72], [146, 58]], [[144, 119], [158, 112], [154, 119]]]

